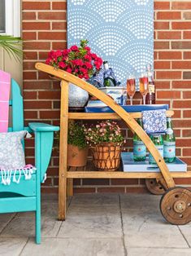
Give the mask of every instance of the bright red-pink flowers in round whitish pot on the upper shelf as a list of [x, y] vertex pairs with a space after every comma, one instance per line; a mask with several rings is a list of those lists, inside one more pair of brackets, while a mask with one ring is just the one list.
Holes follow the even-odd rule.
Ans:
[[[46, 64], [63, 69], [81, 79], [89, 80], [101, 68], [102, 59], [91, 51], [87, 40], [81, 40], [80, 46], [71, 46], [63, 51], [50, 51]], [[88, 99], [89, 94], [86, 90], [72, 83], [69, 84], [70, 108], [82, 108]]]

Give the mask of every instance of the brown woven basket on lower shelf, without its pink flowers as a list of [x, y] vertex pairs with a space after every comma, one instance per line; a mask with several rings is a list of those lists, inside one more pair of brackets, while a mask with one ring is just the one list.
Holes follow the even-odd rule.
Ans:
[[115, 143], [100, 143], [90, 149], [96, 169], [114, 171], [119, 168], [121, 153], [119, 145]]

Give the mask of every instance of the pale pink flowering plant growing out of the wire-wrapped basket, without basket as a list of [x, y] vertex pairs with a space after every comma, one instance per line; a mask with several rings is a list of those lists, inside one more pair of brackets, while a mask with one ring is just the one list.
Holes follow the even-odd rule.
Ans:
[[124, 136], [115, 121], [101, 121], [96, 126], [85, 127], [85, 139], [89, 146], [95, 146], [100, 143], [115, 143], [121, 145], [124, 142]]

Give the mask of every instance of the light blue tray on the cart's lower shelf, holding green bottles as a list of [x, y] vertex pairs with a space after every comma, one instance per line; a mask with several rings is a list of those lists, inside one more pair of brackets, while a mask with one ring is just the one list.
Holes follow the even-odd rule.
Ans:
[[[124, 172], [159, 172], [157, 165], [150, 165], [148, 158], [145, 161], [134, 161], [132, 152], [122, 152], [121, 159]], [[187, 164], [178, 157], [170, 164], [167, 164], [169, 171], [187, 171]]]

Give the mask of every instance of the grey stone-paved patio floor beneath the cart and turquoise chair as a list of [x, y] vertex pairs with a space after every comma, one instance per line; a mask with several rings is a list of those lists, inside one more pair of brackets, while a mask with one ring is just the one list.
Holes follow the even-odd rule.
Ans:
[[78, 194], [61, 222], [57, 197], [43, 196], [41, 245], [34, 241], [34, 213], [0, 214], [0, 255], [191, 255], [191, 223], [167, 223], [159, 200], [150, 194]]

